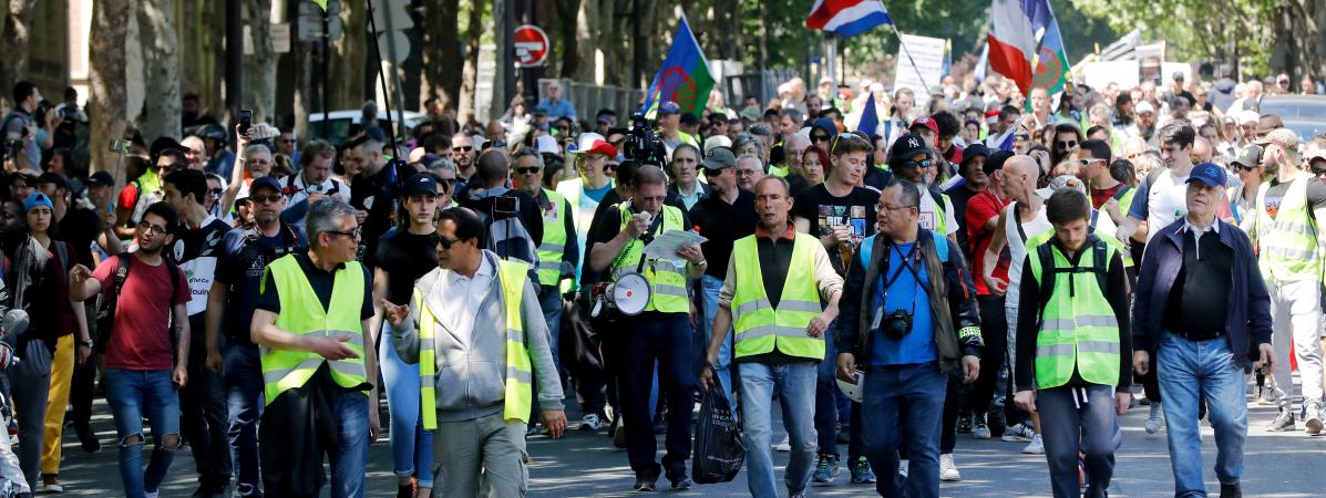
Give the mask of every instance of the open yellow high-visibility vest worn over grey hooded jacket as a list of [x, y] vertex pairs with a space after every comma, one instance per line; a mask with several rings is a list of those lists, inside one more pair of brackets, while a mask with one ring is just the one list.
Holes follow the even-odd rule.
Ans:
[[[507, 379], [503, 400], [503, 420], [529, 423], [533, 400], [534, 374], [525, 347], [525, 327], [520, 321], [520, 303], [525, 297], [525, 273], [529, 265], [521, 261], [499, 260], [497, 278], [501, 285], [504, 317], [507, 319]], [[434, 334], [438, 317], [423, 299], [419, 287], [414, 290], [415, 310], [419, 310], [419, 405], [423, 407], [423, 429], [438, 428], [436, 352]]]

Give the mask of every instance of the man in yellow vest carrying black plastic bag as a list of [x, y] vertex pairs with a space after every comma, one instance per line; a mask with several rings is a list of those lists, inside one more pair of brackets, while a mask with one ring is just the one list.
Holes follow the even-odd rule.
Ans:
[[[838, 317], [842, 277], [829, 253], [788, 220], [788, 180], [769, 176], [756, 184], [760, 224], [753, 236], [732, 246], [728, 273], [719, 291], [708, 364], [719, 360], [728, 327], [736, 326], [737, 376], [741, 381], [741, 426], [747, 446], [747, 486], [752, 495], [774, 497], [770, 446], [772, 397], [782, 400], [782, 424], [792, 444], [788, 495], [805, 493], [815, 458], [815, 381], [825, 358], [823, 332]], [[821, 309], [821, 301], [829, 305]], [[716, 368], [716, 367], [713, 367]], [[713, 384], [715, 371], [700, 371]]]

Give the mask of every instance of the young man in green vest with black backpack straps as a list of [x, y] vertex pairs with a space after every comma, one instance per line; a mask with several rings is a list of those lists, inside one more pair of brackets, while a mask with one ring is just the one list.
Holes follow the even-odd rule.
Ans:
[[1018, 294], [1013, 401], [1041, 415], [1045, 460], [1055, 497], [1081, 497], [1078, 454], [1087, 497], [1105, 497], [1128, 411], [1132, 351], [1123, 258], [1087, 232], [1085, 193], [1054, 192], [1046, 213], [1054, 237], [1028, 248]]

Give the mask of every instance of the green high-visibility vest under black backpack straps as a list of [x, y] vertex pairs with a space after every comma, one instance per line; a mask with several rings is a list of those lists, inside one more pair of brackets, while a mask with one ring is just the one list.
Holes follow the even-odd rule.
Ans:
[[[1058, 246], [1050, 245], [1054, 268], [1045, 269], [1037, 257], [1044, 244], [1026, 250], [1026, 264], [1038, 287], [1045, 285], [1046, 270], [1048, 277], [1055, 279], [1054, 294], [1045, 305], [1036, 335], [1036, 387], [1049, 389], [1067, 384], [1074, 370], [1091, 384], [1118, 384], [1119, 322], [1091, 266], [1097, 246], [1083, 245], [1079, 266], [1073, 266]], [[1105, 248], [1103, 261], [1109, 265], [1116, 249], [1109, 244]]]

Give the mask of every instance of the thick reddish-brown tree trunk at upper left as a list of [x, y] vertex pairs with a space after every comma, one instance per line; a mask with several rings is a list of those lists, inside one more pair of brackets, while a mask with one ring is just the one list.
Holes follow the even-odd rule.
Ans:
[[115, 192], [125, 185], [125, 168], [118, 155], [105, 144], [123, 136], [129, 127], [125, 115], [129, 102], [125, 86], [125, 33], [129, 29], [129, 0], [99, 0], [91, 8], [91, 36], [88, 58], [90, 65], [91, 164], [97, 171], [110, 171], [115, 176]]

